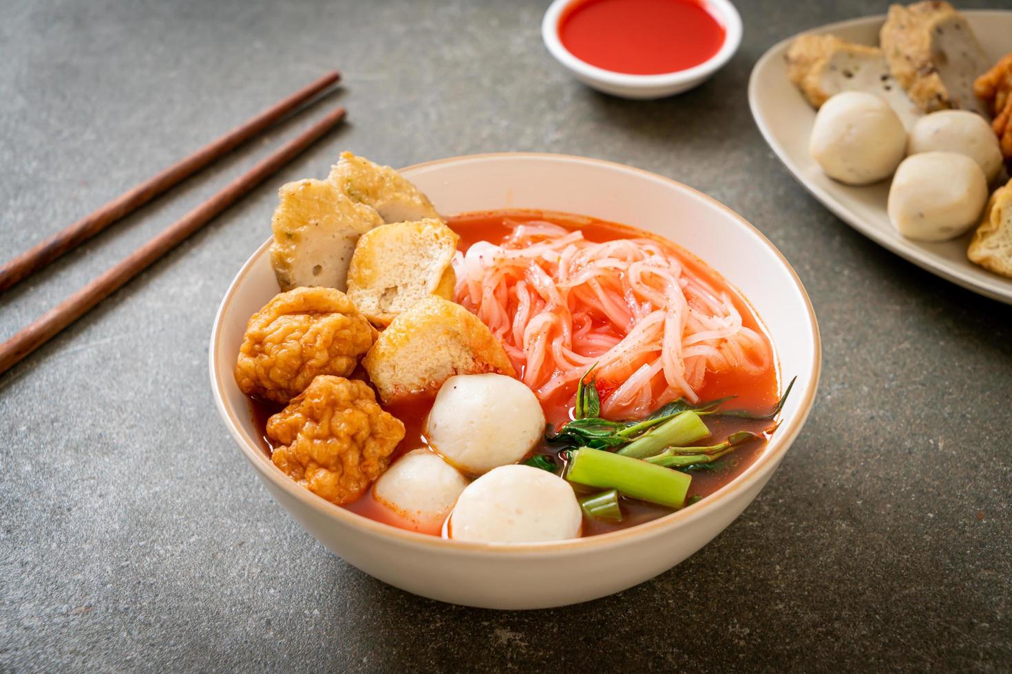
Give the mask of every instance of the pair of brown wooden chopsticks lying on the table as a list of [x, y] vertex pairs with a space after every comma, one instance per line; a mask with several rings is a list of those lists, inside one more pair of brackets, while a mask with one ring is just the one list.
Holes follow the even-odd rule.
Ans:
[[[106, 203], [90, 215], [50, 236], [0, 268], [0, 293], [35, 270], [48, 265], [82, 242], [137, 210], [185, 178], [213, 164], [240, 145], [258, 135], [303, 103], [336, 84], [341, 79], [337, 71], [300, 89], [287, 98], [267, 108], [241, 126], [234, 128], [208, 146], [173, 164], [158, 175]], [[91, 281], [63, 302], [47, 311], [27, 327], [0, 345], [0, 374], [9, 370], [25, 356], [46, 344], [53, 335], [87, 313], [120, 286], [140, 274], [184, 238], [210, 221], [277, 172], [299, 154], [318, 140], [344, 119], [345, 110], [331, 110], [298, 136], [283, 145], [252, 169], [232, 181], [220, 192], [173, 222], [147, 244], [126, 256], [118, 264]]]

